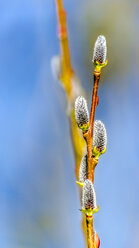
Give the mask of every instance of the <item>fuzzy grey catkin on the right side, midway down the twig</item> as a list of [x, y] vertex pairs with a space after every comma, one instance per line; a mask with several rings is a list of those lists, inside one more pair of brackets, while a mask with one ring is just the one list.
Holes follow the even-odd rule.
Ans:
[[102, 152], [107, 145], [107, 132], [102, 121], [96, 120], [93, 129], [93, 147]]

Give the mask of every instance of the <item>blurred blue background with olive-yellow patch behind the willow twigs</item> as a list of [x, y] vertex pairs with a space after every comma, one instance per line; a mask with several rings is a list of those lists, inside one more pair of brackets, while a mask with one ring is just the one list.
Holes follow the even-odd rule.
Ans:
[[[95, 172], [103, 248], [139, 247], [139, 2], [70, 0], [72, 65], [92, 94], [92, 53], [107, 38], [96, 119], [107, 152]], [[0, 247], [84, 248], [66, 99], [51, 73], [55, 2], [0, 2]]]

